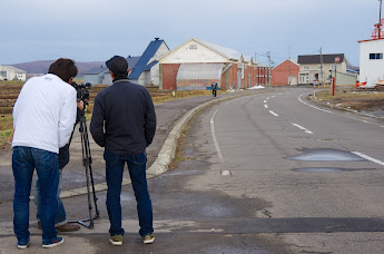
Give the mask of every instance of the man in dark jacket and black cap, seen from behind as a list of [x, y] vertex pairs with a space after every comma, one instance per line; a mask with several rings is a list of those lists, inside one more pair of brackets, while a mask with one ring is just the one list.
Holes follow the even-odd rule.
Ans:
[[132, 182], [139, 217], [139, 234], [144, 243], [155, 241], [152, 207], [146, 178], [146, 147], [154, 139], [156, 114], [148, 90], [128, 81], [128, 62], [115, 56], [107, 62], [114, 84], [101, 90], [93, 106], [90, 133], [105, 147], [107, 209], [110, 221], [110, 243], [121, 245], [120, 193], [125, 164]]

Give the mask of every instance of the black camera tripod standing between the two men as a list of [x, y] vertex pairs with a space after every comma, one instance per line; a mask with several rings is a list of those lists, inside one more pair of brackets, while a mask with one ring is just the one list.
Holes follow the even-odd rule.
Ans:
[[[78, 110], [80, 111], [80, 110]], [[81, 110], [80, 114], [80, 135], [81, 135], [81, 152], [82, 152], [82, 164], [86, 167], [86, 177], [87, 177], [87, 193], [88, 193], [88, 209], [89, 209], [89, 218], [80, 219], [77, 222], [72, 223], [79, 223], [80, 225], [88, 227], [88, 228], [93, 228], [93, 219], [99, 218], [99, 209], [97, 208], [97, 197], [96, 197], [96, 192], [95, 192], [95, 183], [93, 183], [93, 174], [92, 174], [92, 158], [90, 155], [90, 147], [89, 147], [89, 138], [88, 138], [88, 129], [87, 129], [87, 119], [85, 116], [86, 111], [86, 102], [83, 105], [83, 109]], [[73, 130], [75, 131], [75, 130]], [[72, 135], [73, 135], [72, 131]], [[72, 139], [72, 137], [71, 137]], [[92, 189], [90, 190], [90, 185]], [[92, 216], [92, 204], [91, 204], [91, 192], [93, 195], [93, 204], [95, 204], [95, 216]], [[89, 224], [86, 224], [86, 222], [89, 222]]]

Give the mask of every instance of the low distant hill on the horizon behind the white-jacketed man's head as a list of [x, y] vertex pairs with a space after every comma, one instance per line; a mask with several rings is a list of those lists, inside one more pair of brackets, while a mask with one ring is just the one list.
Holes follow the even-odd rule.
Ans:
[[[30, 61], [12, 65], [16, 68], [27, 71], [27, 74], [47, 74], [49, 66], [55, 60], [42, 60], [42, 61]], [[82, 76], [90, 69], [93, 69], [99, 66], [106, 66], [104, 61], [89, 61], [89, 62], [76, 62], [76, 66], [79, 70], [78, 77]]]

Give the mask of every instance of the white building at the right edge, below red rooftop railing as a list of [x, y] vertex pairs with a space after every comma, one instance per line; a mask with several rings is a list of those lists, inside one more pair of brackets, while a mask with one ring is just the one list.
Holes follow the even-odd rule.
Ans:
[[375, 82], [384, 79], [384, 38], [361, 40], [358, 43], [360, 82], [366, 88], [375, 87]]

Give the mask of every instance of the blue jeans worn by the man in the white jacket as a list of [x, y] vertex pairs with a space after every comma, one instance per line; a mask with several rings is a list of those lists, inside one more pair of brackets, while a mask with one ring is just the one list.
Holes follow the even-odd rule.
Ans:
[[48, 150], [13, 147], [12, 170], [14, 177], [13, 231], [19, 244], [29, 242], [29, 195], [35, 168], [40, 182], [42, 243], [57, 236], [55, 228], [59, 184], [58, 155]]

